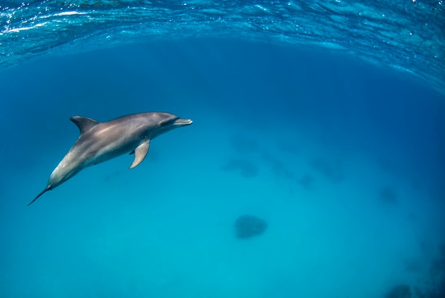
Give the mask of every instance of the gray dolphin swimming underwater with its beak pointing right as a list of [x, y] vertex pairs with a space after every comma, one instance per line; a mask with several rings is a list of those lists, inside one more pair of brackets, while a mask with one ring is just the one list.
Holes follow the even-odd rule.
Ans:
[[28, 206], [43, 193], [50, 191], [79, 173], [87, 166], [100, 164], [122, 154], [134, 154], [129, 167], [140, 164], [149, 151], [150, 140], [177, 127], [193, 123], [166, 112], [127, 115], [108, 122], [97, 122], [86, 117], [71, 117], [80, 129], [80, 137], [54, 169], [48, 183]]

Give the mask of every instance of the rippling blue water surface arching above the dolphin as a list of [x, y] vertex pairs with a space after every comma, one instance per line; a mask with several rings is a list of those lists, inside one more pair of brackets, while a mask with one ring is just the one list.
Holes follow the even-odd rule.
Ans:
[[2, 1], [0, 67], [59, 50], [229, 37], [343, 50], [445, 93], [442, 1]]

